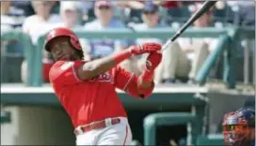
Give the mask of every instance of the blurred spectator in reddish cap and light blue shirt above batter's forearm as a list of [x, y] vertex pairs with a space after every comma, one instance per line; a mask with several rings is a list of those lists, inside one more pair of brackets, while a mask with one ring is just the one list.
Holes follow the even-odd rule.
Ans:
[[[94, 13], [96, 19], [93, 22], [85, 24], [85, 30], [102, 31], [106, 29], [125, 28], [123, 22], [119, 22], [113, 18], [114, 6], [110, 1], [96, 1]], [[87, 50], [92, 58], [99, 58], [125, 48], [125, 41], [114, 41], [113, 39], [91, 39], [87, 43]]]

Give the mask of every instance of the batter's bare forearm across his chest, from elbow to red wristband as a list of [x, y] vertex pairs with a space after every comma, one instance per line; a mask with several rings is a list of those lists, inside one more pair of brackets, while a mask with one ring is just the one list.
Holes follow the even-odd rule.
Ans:
[[123, 60], [128, 59], [131, 55], [132, 53], [129, 50], [120, 51], [84, 64], [82, 80], [92, 79], [103, 74], [114, 66], [120, 64]]

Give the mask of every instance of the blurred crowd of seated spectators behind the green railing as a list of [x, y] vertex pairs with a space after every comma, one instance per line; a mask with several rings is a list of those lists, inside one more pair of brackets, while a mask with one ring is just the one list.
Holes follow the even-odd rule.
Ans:
[[[55, 27], [89, 31], [105, 29], [152, 30], [177, 28], [202, 5], [201, 1], [1, 1], [1, 32], [22, 29], [31, 36], [34, 45], [38, 38]], [[219, 1], [215, 7], [194, 22], [193, 27], [226, 27], [240, 25], [255, 27], [254, 1]], [[149, 41], [164, 43], [158, 38], [135, 40], [80, 39], [85, 59], [100, 58], [131, 45]], [[195, 83], [197, 72], [207, 55], [216, 48], [216, 38], [179, 38], [165, 51], [162, 64], [155, 73], [155, 82], [170, 84], [186, 79]], [[1, 43], [5, 52], [24, 53], [19, 42]], [[4, 47], [3, 47], [4, 46]], [[3, 52], [3, 49], [1, 49]], [[139, 74], [145, 56], [131, 58], [120, 66]], [[43, 79], [48, 81], [48, 71], [53, 65], [52, 56], [43, 51]], [[21, 78], [26, 79], [26, 62], [21, 67]]]

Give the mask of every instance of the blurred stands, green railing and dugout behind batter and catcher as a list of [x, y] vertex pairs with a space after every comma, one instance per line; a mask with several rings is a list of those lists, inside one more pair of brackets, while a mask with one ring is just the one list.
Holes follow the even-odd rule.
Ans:
[[[93, 60], [131, 45], [164, 44], [202, 3], [1, 1], [1, 144], [74, 144], [49, 85], [49, 30], [75, 31], [85, 59]], [[140, 74], [144, 62], [132, 57], [120, 66]], [[255, 108], [255, 66], [255, 2], [218, 1], [164, 51], [149, 100], [119, 93], [133, 144], [221, 145], [224, 113]]]

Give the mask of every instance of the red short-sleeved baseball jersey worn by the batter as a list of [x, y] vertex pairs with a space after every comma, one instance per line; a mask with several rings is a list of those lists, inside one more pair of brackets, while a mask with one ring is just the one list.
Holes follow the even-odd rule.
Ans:
[[79, 80], [74, 68], [83, 61], [57, 61], [50, 70], [50, 81], [61, 105], [68, 112], [74, 127], [101, 121], [109, 117], [126, 117], [126, 112], [116, 93], [125, 91], [131, 74], [120, 66], [92, 80]]

